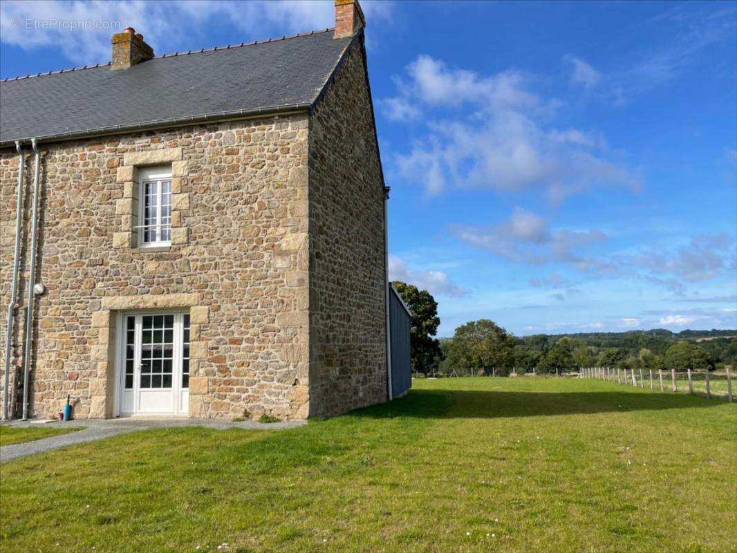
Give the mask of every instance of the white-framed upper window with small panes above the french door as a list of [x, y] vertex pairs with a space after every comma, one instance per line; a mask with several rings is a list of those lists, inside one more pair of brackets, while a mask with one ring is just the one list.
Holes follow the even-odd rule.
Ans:
[[139, 246], [170, 246], [172, 226], [172, 168], [139, 170]]

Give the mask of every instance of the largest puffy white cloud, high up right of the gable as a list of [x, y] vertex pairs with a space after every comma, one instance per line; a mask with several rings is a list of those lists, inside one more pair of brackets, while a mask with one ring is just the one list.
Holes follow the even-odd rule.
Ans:
[[419, 119], [421, 111], [452, 110], [427, 118], [427, 133], [396, 170], [430, 194], [450, 185], [517, 191], [547, 189], [553, 201], [592, 186], [638, 187], [624, 164], [607, 159], [601, 136], [576, 128], [549, 128], [560, 102], [528, 90], [529, 77], [506, 71], [481, 75], [419, 56], [403, 77], [399, 94], [380, 102], [390, 119]]

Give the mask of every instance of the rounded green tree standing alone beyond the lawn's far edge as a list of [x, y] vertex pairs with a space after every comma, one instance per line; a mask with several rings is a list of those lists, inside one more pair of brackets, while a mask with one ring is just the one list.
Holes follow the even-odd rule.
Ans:
[[462, 324], [455, 329], [449, 348], [450, 369], [507, 369], [514, 364], [514, 336], [489, 319]]

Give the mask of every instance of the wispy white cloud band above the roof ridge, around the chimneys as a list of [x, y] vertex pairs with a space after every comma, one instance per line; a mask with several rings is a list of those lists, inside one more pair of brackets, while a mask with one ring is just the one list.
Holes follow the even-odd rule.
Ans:
[[[393, 2], [363, 1], [366, 19], [388, 19]], [[16, 21], [21, 21], [18, 26]], [[35, 27], [33, 21], [57, 21], [52, 28]], [[91, 28], [69, 29], [69, 22], [90, 22]], [[186, 46], [192, 35], [203, 35], [209, 23], [228, 22], [243, 33], [242, 41], [265, 39], [296, 32], [310, 32], [335, 25], [332, 0], [175, 0], [148, 2], [60, 0], [0, 2], [0, 40], [22, 49], [55, 46], [72, 63], [107, 63], [113, 32], [135, 27], [154, 52], [164, 54]], [[29, 22], [27, 24], [27, 22]], [[66, 27], [61, 23], [66, 22]], [[117, 27], [95, 28], [101, 22]], [[217, 42], [202, 44], [224, 46]], [[200, 46], [200, 47], [202, 47]]]

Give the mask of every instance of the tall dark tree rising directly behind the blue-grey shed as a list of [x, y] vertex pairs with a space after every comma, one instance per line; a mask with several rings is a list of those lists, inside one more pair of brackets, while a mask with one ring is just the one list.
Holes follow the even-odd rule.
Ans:
[[438, 363], [439, 358], [442, 358], [440, 342], [433, 338], [438, 333], [440, 324], [438, 302], [427, 290], [419, 290], [416, 286], [399, 280], [395, 280], [392, 284], [412, 312], [410, 326], [412, 367], [418, 372], [427, 374], [433, 365]]

